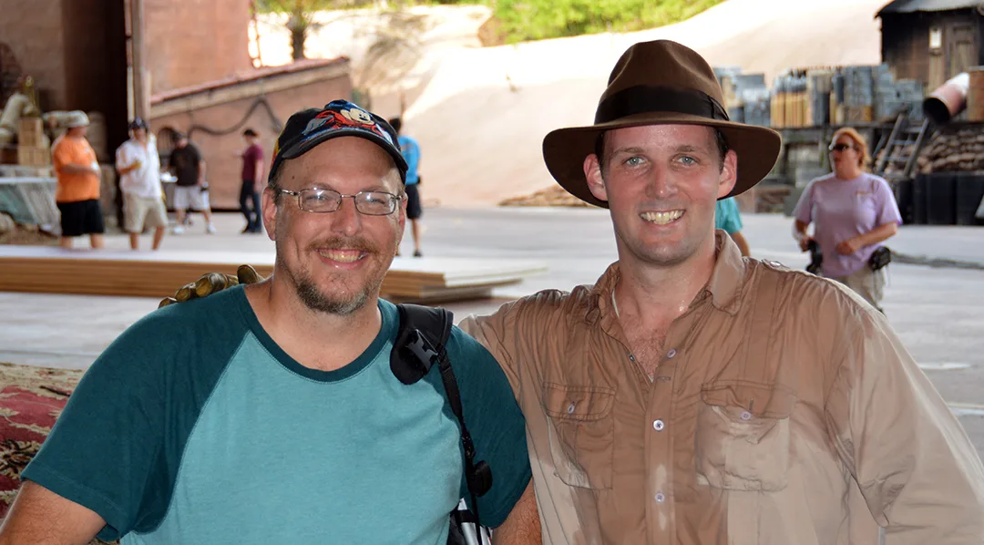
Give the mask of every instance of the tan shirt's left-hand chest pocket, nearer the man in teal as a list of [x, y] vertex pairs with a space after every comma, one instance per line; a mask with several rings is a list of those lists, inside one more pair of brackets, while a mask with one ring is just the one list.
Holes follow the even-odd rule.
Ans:
[[557, 476], [570, 486], [612, 486], [615, 390], [590, 386], [543, 385], [543, 408], [550, 419], [550, 455]]

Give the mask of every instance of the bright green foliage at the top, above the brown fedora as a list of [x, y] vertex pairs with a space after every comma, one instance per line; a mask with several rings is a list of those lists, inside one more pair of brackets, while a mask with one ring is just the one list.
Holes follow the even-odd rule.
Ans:
[[507, 43], [671, 25], [721, 0], [491, 0]]

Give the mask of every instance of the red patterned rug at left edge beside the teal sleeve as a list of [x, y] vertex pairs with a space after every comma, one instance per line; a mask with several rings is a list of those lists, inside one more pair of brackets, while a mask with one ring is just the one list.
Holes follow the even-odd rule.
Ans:
[[0, 519], [83, 373], [0, 362]]

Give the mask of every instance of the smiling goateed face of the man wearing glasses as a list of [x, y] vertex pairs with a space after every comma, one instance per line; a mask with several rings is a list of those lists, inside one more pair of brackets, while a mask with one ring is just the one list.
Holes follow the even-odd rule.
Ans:
[[[333, 189], [402, 194], [400, 172], [380, 147], [356, 137], [338, 137], [285, 161], [278, 187], [289, 191]], [[264, 223], [277, 243], [274, 277], [292, 285], [309, 309], [348, 315], [372, 303], [403, 236], [405, 204], [390, 215], [366, 215], [343, 198], [336, 212], [302, 211], [297, 197], [264, 191]]]

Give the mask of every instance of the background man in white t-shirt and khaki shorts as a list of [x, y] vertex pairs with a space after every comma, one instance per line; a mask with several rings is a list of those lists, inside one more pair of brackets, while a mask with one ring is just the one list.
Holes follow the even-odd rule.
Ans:
[[145, 225], [154, 227], [153, 250], [160, 247], [167, 227], [167, 210], [160, 189], [160, 157], [147, 122], [130, 122], [130, 140], [116, 150], [116, 170], [123, 193], [123, 229], [130, 233], [130, 248], [137, 250]]

